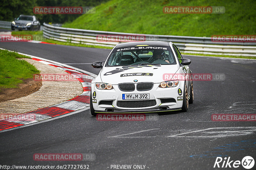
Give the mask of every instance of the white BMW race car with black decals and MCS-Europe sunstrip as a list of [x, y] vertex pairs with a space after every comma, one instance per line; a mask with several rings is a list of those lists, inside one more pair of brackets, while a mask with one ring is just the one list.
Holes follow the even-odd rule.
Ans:
[[172, 42], [135, 41], [117, 44], [92, 80], [91, 114], [180, 110], [193, 103], [189, 59]]

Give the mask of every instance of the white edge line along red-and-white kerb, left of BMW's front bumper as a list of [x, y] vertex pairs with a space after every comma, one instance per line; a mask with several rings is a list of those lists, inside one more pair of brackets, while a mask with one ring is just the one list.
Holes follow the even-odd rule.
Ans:
[[22, 125], [22, 126], [11, 128], [11, 129], [6, 129], [6, 130], [3, 130], [3, 131], [0, 131], [0, 133], [6, 132], [6, 131], [12, 131], [14, 129], [20, 129], [20, 128], [32, 126], [32, 125], [35, 125], [35, 124], [41, 124], [41, 123], [44, 123], [44, 122], [49, 122], [49, 121], [52, 121], [52, 120], [55, 120], [55, 119], [59, 119], [59, 118], [62, 118], [62, 117], [70, 116], [70, 115], [85, 111], [85, 110], [88, 110], [88, 109], [90, 109], [90, 107], [87, 107], [87, 108], [81, 109], [81, 110], [76, 110], [76, 111], [73, 111], [73, 112], [70, 112], [70, 113], [67, 113], [67, 114], [64, 114], [64, 115], [60, 115], [60, 116], [57, 116], [57, 117], [51, 117], [49, 119], [44, 119], [42, 121], [39, 121], [39, 122], [36, 122], [36, 123], [33, 123], [33, 124], [25, 124], [25, 125]]

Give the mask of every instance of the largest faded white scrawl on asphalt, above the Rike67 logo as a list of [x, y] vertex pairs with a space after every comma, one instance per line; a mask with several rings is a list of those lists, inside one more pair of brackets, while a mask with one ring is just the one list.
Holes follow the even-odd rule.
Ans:
[[[209, 130], [217, 130], [217, 131], [209, 131]], [[256, 131], [256, 127], [217, 127], [217, 128], [207, 128], [196, 131], [188, 131], [180, 134], [175, 134], [169, 137], [175, 138], [222, 138], [222, 137], [230, 137], [230, 136], [241, 136], [241, 135], [250, 135]], [[202, 132], [201, 134], [191, 134]], [[186, 136], [186, 134], [191, 134], [192, 136]]]

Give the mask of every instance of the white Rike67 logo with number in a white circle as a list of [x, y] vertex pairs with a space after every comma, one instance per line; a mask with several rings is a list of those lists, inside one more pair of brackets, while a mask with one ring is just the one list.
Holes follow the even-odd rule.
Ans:
[[251, 169], [254, 166], [254, 159], [251, 156], [245, 156], [242, 161], [240, 160], [231, 160], [230, 157], [225, 157], [222, 159], [221, 157], [217, 157], [214, 163], [214, 168], [238, 168], [239, 166], [243, 166], [245, 169]]

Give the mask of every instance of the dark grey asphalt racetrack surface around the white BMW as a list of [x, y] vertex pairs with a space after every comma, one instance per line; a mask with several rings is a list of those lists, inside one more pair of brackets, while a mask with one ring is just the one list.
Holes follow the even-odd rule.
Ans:
[[[0, 43], [0, 47], [61, 63], [92, 63], [105, 60], [110, 52], [27, 42]], [[0, 133], [0, 164], [79, 164], [89, 165], [90, 169], [145, 165], [149, 170], [180, 170], [214, 169], [217, 156], [234, 161], [251, 156], [255, 160], [255, 121], [216, 122], [211, 120], [211, 115], [256, 113], [256, 61], [185, 55], [183, 58], [192, 61], [193, 73], [225, 74], [224, 81], [194, 81], [195, 101], [189, 105], [188, 112], [162, 114], [157, 121], [102, 122], [86, 110], [6, 131]], [[69, 65], [94, 74], [100, 71], [90, 64]], [[34, 153], [94, 153], [96, 160], [34, 161]], [[236, 169], [244, 168], [240, 165]]]

